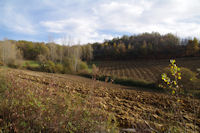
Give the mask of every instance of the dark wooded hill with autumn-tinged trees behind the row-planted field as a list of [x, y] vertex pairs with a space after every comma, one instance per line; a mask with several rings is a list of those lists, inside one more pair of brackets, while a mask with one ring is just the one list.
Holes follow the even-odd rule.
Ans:
[[157, 32], [113, 38], [93, 43], [95, 60], [162, 59], [200, 56], [197, 38], [180, 39], [171, 33]]

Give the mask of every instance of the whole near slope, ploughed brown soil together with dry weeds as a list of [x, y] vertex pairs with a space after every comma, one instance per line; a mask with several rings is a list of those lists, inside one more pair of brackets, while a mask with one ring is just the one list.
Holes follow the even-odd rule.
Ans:
[[[15, 69], [6, 69], [6, 71], [13, 87], [12, 93], [7, 94], [11, 102], [4, 103], [1, 108], [0, 121], [9, 122], [10, 128], [12, 127], [14, 131], [25, 130], [28, 122], [33, 124], [32, 126], [38, 124], [38, 126], [46, 127], [43, 131], [69, 131], [74, 129], [66, 122], [72, 121], [77, 131], [94, 132], [99, 129], [98, 126], [101, 126], [101, 130], [109, 128], [109, 124], [102, 126], [101, 122], [112, 113], [119, 127], [134, 128], [142, 133], [169, 130], [198, 132], [200, 130], [200, 101], [197, 99], [181, 97], [180, 113], [176, 114], [177, 99], [164, 93], [145, 92], [137, 88], [72, 75]], [[71, 98], [67, 97], [69, 95]], [[79, 98], [77, 100], [77, 96], [84, 100]], [[24, 100], [34, 102], [30, 104]], [[12, 101], [18, 102], [12, 103]], [[68, 117], [72, 112], [63, 112], [66, 110], [64, 108], [69, 105], [66, 104], [69, 101], [83, 102], [71, 104], [74, 106], [70, 109], [76, 114], [71, 115], [72, 117]], [[8, 106], [10, 104], [12, 106]], [[93, 113], [84, 117], [83, 108]], [[3, 115], [2, 112], [4, 112]], [[45, 116], [49, 117], [49, 121], [46, 122], [46, 119], [40, 118], [45, 118]], [[22, 120], [24, 123], [19, 124]], [[92, 120], [97, 123], [94, 124]], [[30, 121], [35, 123], [30, 123]], [[61, 122], [60, 125], [58, 122]], [[96, 127], [91, 128], [91, 125], [92, 127], [96, 125]], [[111, 128], [107, 131], [111, 131]]]

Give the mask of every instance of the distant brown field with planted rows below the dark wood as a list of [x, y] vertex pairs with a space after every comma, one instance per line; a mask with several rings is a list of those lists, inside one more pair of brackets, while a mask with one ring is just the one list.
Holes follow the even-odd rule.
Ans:
[[[200, 68], [199, 57], [177, 58], [176, 61], [179, 67], [186, 67], [194, 72]], [[100, 75], [156, 82], [160, 79], [163, 69], [169, 66], [169, 59], [99, 61], [95, 63], [100, 69]]]

